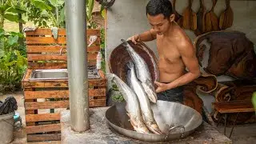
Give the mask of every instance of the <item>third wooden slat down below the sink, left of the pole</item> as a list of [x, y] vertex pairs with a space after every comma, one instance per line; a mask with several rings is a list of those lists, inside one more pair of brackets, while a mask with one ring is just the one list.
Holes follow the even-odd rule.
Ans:
[[55, 102], [25, 102], [26, 110], [38, 109], [56, 109], [66, 108], [69, 106], [69, 101], [55, 101]]

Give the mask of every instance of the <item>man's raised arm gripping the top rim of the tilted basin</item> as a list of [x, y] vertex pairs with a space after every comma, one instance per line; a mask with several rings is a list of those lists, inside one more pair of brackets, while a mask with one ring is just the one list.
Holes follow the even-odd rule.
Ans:
[[128, 40], [131, 40], [136, 44], [137, 42], [153, 41], [156, 38], [157, 38], [157, 33], [153, 29], [150, 29], [142, 34], [136, 34], [128, 38]]

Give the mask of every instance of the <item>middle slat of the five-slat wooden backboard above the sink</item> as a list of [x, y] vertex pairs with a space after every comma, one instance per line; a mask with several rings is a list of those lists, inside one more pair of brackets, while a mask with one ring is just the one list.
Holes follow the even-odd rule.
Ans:
[[[62, 54], [66, 53], [66, 46], [26, 46], [27, 53], [58, 53], [62, 50]], [[100, 46], [89, 46], [87, 52], [98, 52]]]

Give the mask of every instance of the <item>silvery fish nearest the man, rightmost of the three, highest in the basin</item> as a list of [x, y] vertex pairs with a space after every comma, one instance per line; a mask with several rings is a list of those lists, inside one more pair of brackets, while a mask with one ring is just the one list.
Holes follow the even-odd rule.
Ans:
[[142, 87], [145, 90], [148, 98], [150, 98], [151, 102], [156, 103], [158, 98], [156, 92], [154, 91], [150, 70], [146, 62], [141, 56], [138, 55], [138, 53], [136, 53], [136, 51], [128, 42], [126, 42], [126, 40], [122, 39], [121, 41], [122, 46], [126, 46], [126, 50], [129, 52], [130, 57], [134, 61], [137, 78], [142, 83]]

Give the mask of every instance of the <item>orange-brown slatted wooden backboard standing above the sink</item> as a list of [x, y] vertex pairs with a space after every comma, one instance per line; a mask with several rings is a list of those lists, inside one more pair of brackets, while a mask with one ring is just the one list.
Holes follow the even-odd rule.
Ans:
[[[88, 41], [90, 36], [98, 36], [96, 42], [87, 48], [88, 65], [95, 66], [97, 52], [100, 50], [100, 30], [87, 30], [86, 34]], [[89, 43], [88, 41], [87, 43]], [[28, 69], [66, 69], [66, 48], [65, 29], [58, 30], [57, 39], [54, 39], [50, 29], [27, 31]], [[61, 49], [62, 54], [59, 54]]]

